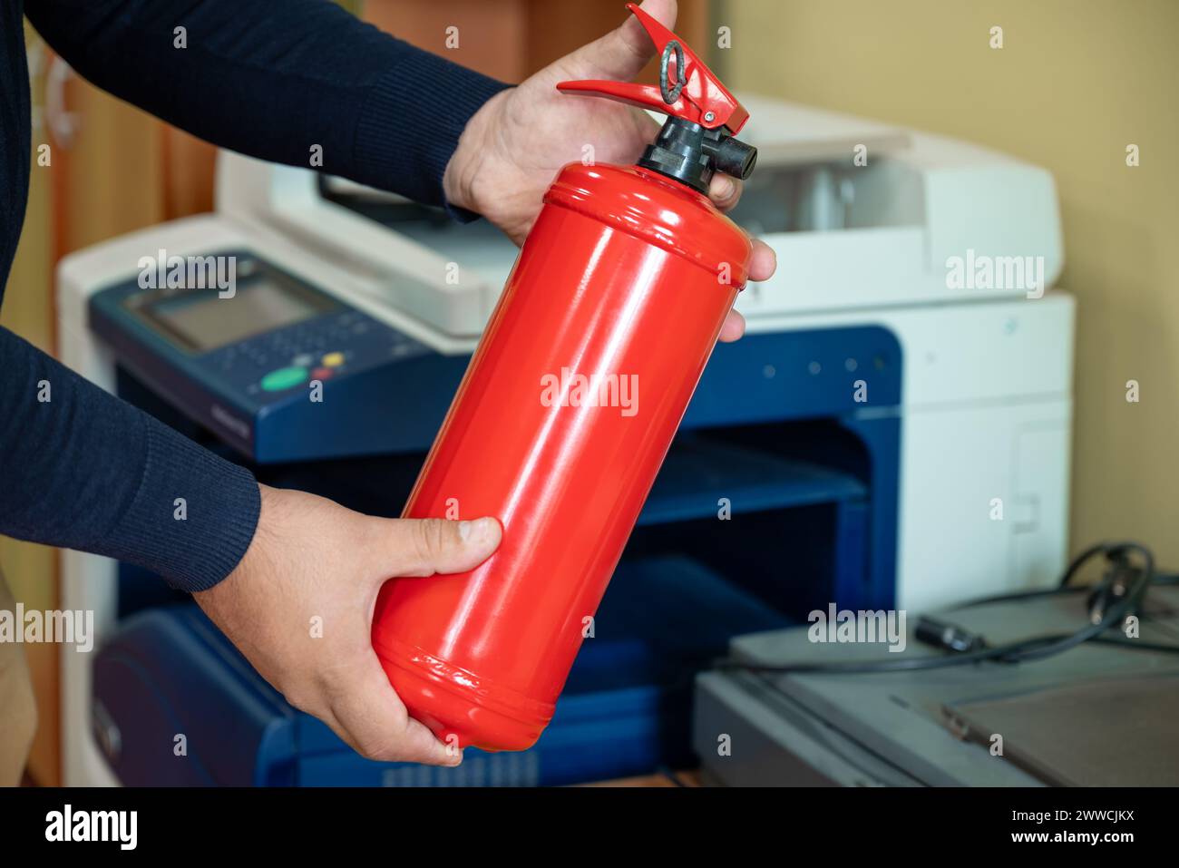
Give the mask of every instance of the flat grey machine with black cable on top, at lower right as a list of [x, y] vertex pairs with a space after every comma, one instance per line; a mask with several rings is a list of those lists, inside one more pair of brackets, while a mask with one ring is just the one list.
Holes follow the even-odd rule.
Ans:
[[[1085, 600], [1082, 591], [937, 618], [999, 645], [1085, 626]], [[1179, 645], [1179, 588], [1151, 587], [1146, 614], [1144, 643]], [[882, 643], [814, 643], [801, 626], [738, 637], [731, 656], [799, 664], [941, 653], [915, 640], [916, 618], [909, 620], [901, 652]], [[694, 744], [705, 776], [732, 785], [1174, 785], [1179, 730], [1166, 721], [1177, 711], [1179, 655], [1086, 643], [1017, 664], [705, 672], [697, 680]], [[1144, 751], [1144, 741], [1158, 750]]]

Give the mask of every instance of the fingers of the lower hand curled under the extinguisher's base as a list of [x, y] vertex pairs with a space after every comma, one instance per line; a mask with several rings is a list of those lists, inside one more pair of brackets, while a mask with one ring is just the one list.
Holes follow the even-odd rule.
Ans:
[[457, 765], [462, 751], [409, 717], [375, 653], [363, 655], [341, 684], [330, 688], [336, 729], [358, 754], [380, 762]]

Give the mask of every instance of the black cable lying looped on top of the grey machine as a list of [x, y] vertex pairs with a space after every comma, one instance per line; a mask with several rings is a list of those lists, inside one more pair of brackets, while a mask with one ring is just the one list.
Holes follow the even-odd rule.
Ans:
[[[1144, 566], [1139, 576], [1132, 583], [1129, 590], [1126, 594], [1117, 600], [1114, 605], [1109, 606], [1105, 612], [1102, 612], [1101, 619], [1095, 624], [1088, 624], [1080, 630], [1072, 633], [1060, 633], [1054, 636], [1038, 636], [1029, 639], [1021, 639], [1019, 642], [1008, 643], [1006, 645], [997, 645], [994, 647], [983, 647], [976, 651], [966, 651], [961, 653], [955, 653], [946, 657], [911, 657], [897, 660], [849, 660], [845, 663], [792, 663], [792, 664], [763, 664], [752, 663], [745, 660], [738, 660], [733, 658], [724, 658], [717, 662], [718, 669], [740, 669], [751, 672], [775, 672], [775, 673], [808, 673], [808, 672], [822, 672], [825, 675], [847, 675], [847, 673], [864, 673], [864, 672], [897, 672], [897, 671], [914, 671], [914, 670], [927, 670], [927, 669], [947, 669], [949, 666], [964, 666], [971, 663], [982, 663], [987, 660], [996, 660], [1001, 663], [1026, 663], [1030, 660], [1039, 660], [1046, 657], [1052, 657], [1054, 655], [1068, 651], [1078, 645], [1100, 640], [1105, 644], [1115, 644], [1119, 647], [1134, 647], [1144, 651], [1166, 651], [1172, 653], [1179, 653], [1179, 645], [1167, 646], [1167, 645], [1151, 645], [1147, 643], [1139, 643], [1138, 640], [1117, 640], [1104, 638], [1101, 634], [1107, 630], [1113, 627], [1115, 624], [1121, 623], [1127, 614], [1135, 611], [1135, 609], [1141, 603], [1141, 598], [1146, 593], [1146, 588], [1155, 581], [1158, 578], [1154, 571], [1154, 554], [1150, 548], [1139, 542], [1099, 542], [1094, 546], [1089, 546], [1079, 555], [1076, 555], [1068, 568], [1065, 570], [1065, 574], [1061, 577], [1060, 585], [1052, 591], [1028, 591], [1015, 594], [1000, 594], [996, 597], [984, 597], [975, 600], [970, 600], [955, 609], [968, 609], [970, 606], [983, 605], [984, 603], [999, 603], [1013, 599], [1028, 599], [1033, 597], [1047, 597], [1055, 596], [1060, 593], [1076, 593], [1080, 591], [1088, 591], [1087, 587], [1073, 587], [1069, 585], [1073, 577], [1080, 571], [1080, 568], [1088, 563], [1092, 558], [1098, 554], [1105, 554], [1107, 559], [1119, 559], [1124, 558], [1129, 552], [1137, 552], [1144, 561]], [[1174, 576], [1165, 577], [1165, 584], [1172, 584], [1174, 581]]]

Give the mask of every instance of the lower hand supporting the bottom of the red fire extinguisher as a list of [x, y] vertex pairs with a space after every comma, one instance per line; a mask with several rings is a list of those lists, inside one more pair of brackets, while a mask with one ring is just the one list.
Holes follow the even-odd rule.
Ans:
[[476, 567], [499, 546], [499, 522], [378, 519], [259, 488], [250, 548], [197, 603], [288, 702], [360, 754], [457, 765], [461, 752], [411, 719], [390, 686], [369, 639], [373, 610], [390, 577]]

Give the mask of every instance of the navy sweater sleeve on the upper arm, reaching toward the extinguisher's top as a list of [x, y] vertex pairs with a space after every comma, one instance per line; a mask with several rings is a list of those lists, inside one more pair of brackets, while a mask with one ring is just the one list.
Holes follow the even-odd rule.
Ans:
[[[28, 0], [92, 83], [222, 147], [446, 204], [467, 120], [507, 87], [329, 0]], [[316, 166], [320, 167], [320, 166]]]

